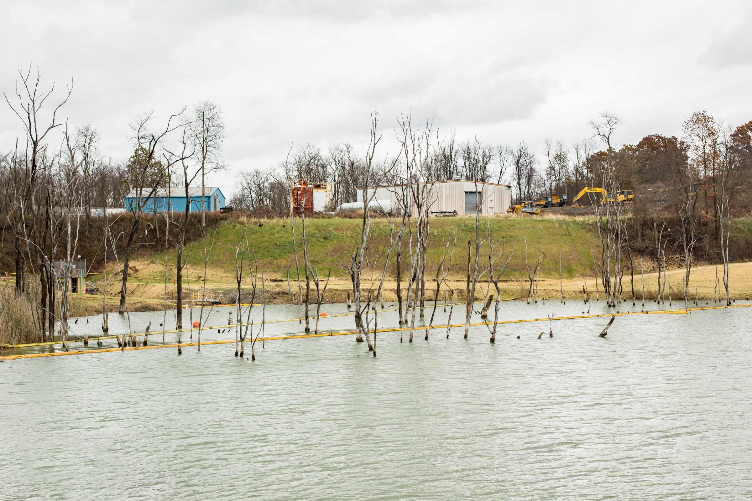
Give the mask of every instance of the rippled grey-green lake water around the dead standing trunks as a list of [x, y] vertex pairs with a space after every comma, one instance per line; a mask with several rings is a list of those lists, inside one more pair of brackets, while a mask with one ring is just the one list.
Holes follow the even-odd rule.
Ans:
[[[505, 319], [583, 311], [502, 303]], [[161, 318], [131, 315], [139, 332]], [[599, 338], [607, 322], [554, 321], [540, 340], [547, 321], [506, 324], [495, 345], [484, 326], [382, 333], [377, 358], [350, 335], [259, 341], [255, 362], [233, 344], [4, 361], [0, 499], [750, 499], [752, 307], [621, 316]]]

